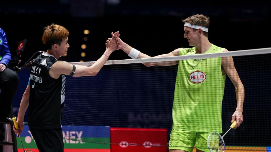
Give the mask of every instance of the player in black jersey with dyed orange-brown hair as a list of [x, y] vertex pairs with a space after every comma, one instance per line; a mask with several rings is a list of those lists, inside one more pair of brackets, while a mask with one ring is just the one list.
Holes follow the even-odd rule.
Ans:
[[18, 114], [18, 136], [24, 128], [24, 115], [28, 109], [28, 126], [40, 152], [63, 152], [60, 109], [65, 97], [65, 75], [73, 77], [94, 76], [104, 66], [109, 55], [117, 48], [119, 32], [115, 32], [104, 54], [92, 66], [72, 65], [58, 60], [66, 56], [69, 31], [51, 24], [44, 28], [42, 41], [47, 52], [40, 54], [30, 67], [30, 78], [21, 100]]

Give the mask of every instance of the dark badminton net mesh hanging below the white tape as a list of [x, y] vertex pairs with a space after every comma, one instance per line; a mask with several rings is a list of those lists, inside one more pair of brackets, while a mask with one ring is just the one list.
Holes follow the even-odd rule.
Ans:
[[[270, 53], [265, 48], [107, 61], [96, 76], [66, 76], [62, 125], [72, 127], [63, 131], [64, 140], [110, 144], [111, 149], [208, 149], [208, 135], [228, 130], [236, 97], [242, 97], [242, 92], [235, 92], [230, 75], [234, 80], [240, 77], [244, 86], [244, 122], [223, 138], [225, 149], [266, 151], [271, 146]], [[234, 70], [221, 70], [221, 62], [235, 66], [238, 75]], [[90, 66], [93, 62], [72, 64]], [[228, 76], [223, 75], [225, 71]], [[182, 142], [183, 138], [188, 141]]]

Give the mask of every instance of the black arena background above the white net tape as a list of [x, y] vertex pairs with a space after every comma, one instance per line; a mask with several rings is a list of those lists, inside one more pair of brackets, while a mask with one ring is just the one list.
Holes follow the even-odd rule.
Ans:
[[[223, 2], [222, 2], [223, 3]], [[210, 17], [208, 38], [229, 51], [270, 47], [270, 5], [257, 2], [227, 1], [143, 1], [143, 0], [49, 0], [1, 1], [0, 27], [7, 34], [10, 50], [15, 54], [18, 42], [27, 39], [22, 63], [38, 50], [43, 28], [51, 23], [66, 27], [70, 48], [68, 62], [96, 61], [105, 51], [111, 32], [120, 31], [121, 39], [151, 55], [160, 55], [180, 47], [189, 47], [183, 38], [183, 23], [191, 15]], [[88, 29], [90, 34], [84, 35]], [[88, 37], [84, 41], [83, 37]], [[86, 44], [85, 50], [81, 45]], [[85, 52], [86, 57], [80, 53]], [[129, 59], [121, 50], [109, 60]]]

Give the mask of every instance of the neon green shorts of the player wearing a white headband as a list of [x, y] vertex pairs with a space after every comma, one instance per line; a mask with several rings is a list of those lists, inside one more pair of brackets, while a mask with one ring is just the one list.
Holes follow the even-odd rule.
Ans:
[[183, 131], [172, 129], [170, 133], [169, 149], [180, 149], [192, 152], [194, 147], [209, 152], [207, 138], [210, 133]]

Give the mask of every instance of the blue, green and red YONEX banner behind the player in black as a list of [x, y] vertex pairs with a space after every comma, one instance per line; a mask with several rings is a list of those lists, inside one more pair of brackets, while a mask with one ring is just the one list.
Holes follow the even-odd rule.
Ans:
[[[64, 151], [110, 152], [110, 127], [108, 126], [62, 126]], [[38, 151], [28, 128], [24, 126], [21, 140], [24, 149]], [[22, 149], [20, 138], [16, 138], [18, 149]], [[77, 141], [79, 140], [79, 141]]]

